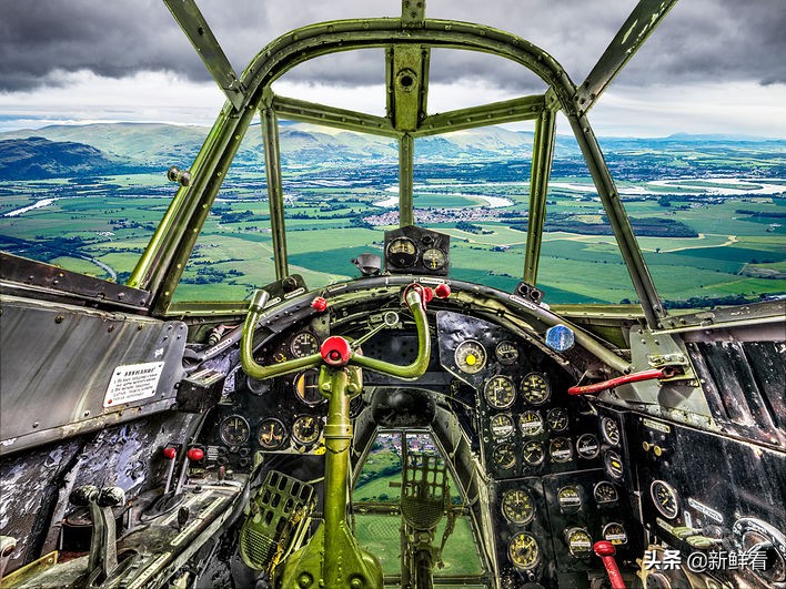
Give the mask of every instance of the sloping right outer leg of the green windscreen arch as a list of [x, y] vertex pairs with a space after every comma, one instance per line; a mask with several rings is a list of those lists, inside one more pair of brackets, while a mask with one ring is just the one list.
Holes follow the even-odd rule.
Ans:
[[638, 242], [633, 233], [631, 220], [623, 207], [619, 192], [617, 192], [606, 161], [603, 159], [601, 146], [586, 116], [568, 115], [567, 120], [571, 122], [578, 146], [584, 154], [584, 160], [595, 183], [595, 189], [606, 211], [608, 223], [612, 226], [612, 231], [614, 231], [614, 236], [638, 295], [647, 325], [654, 329], [658, 326], [658, 319], [665, 316], [665, 312], [655, 291], [652, 276], [649, 276], [647, 265], [644, 262], [642, 250], [638, 247]]

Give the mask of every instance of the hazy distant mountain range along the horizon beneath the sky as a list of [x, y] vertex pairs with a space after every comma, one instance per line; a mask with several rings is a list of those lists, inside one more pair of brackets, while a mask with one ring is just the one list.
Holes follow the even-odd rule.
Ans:
[[[159, 123], [98, 123], [52, 125], [0, 133], [0, 179], [68, 177], [188, 167], [210, 129]], [[394, 164], [395, 142], [385, 138], [337, 131], [306, 123], [286, 122], [281, 131], [281, 158], [286, 164], [341, 164], [373, 161]], [[528, 160], [533, 133], [498, 126], [457, 131], [416, 140], [416, 162], [458, 163], [468, 159]], [[727, 135], [678, 134], [659, 139], [606, 138], [601, 140], [609, 164], [629, 169], [644, 165], [642, 156], [664, 163], [702, 159], [718, 153], [762, 159], [765, 166], [786, 175], [786, 140]], [[557, 158], [577, 160], [571, 136], [557, 135]], [[239, 165], [264, 162], [262, 133], [252, 125], [235, 160]], [[624, 165], [619, 165], [623, 162]], [[648, 163], [647, 165], [651, 165]]]

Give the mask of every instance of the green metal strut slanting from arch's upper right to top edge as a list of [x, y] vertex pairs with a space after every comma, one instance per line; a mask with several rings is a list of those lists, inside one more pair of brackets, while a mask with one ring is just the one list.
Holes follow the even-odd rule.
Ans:
[[676, 3], [677, 0], [639, 0], [597, 64], [578, 87], [576, 101], [581, 112], [586, 113], [597, 102], [601, 93]]

